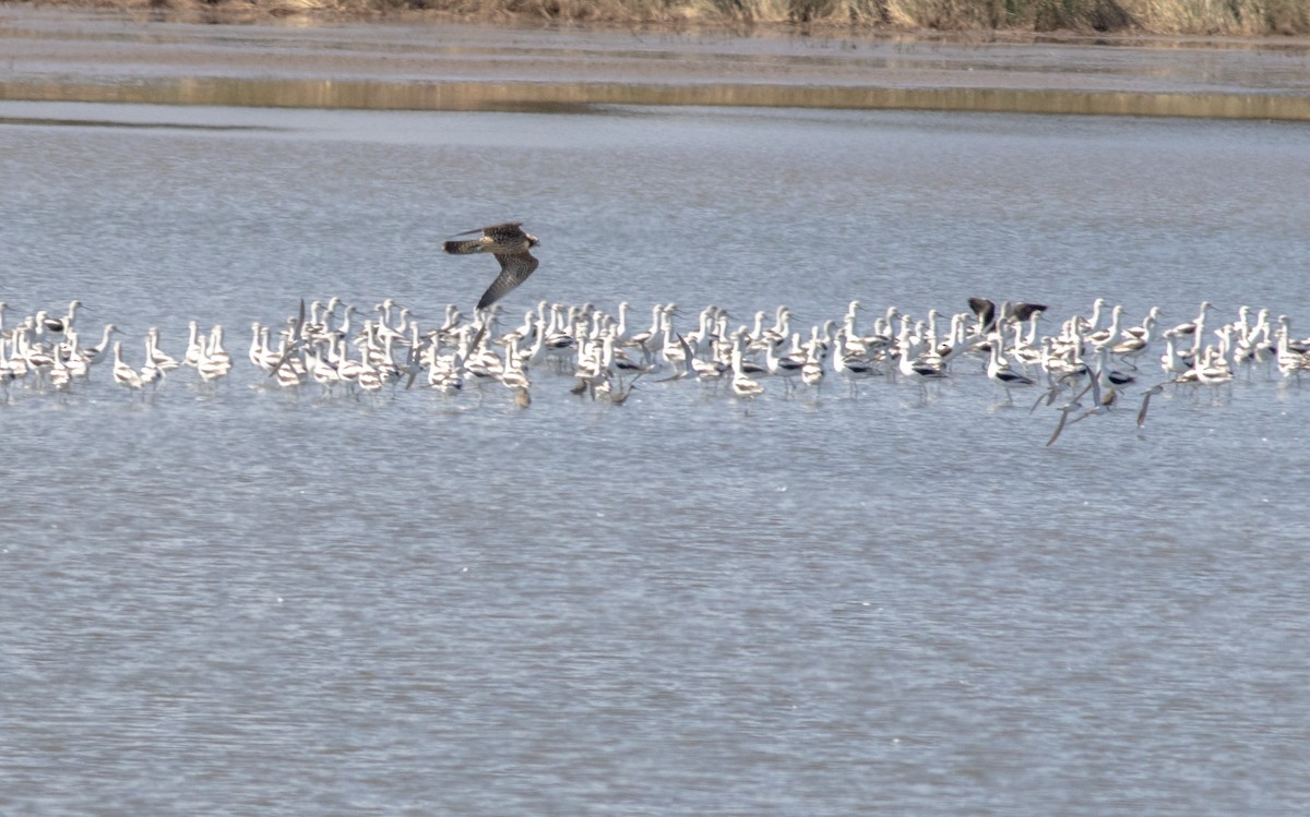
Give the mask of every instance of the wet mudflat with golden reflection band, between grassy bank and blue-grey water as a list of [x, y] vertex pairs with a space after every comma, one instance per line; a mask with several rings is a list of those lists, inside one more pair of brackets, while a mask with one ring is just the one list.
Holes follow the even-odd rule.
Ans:
[[194, 25], [0, 8], [0, 98], [364, 109], [592, 105], [1310, 119], [1310, 41], [942, 42], [451, 24]]

